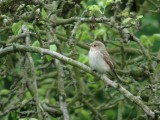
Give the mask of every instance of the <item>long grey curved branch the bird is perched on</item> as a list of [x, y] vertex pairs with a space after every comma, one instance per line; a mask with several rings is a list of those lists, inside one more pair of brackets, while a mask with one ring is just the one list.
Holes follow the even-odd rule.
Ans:
[[106, 85], [109, 85], [115, 89], [117, 89], [118, 91], [120, 91], [126, 98], [128, 98], [130, 101], [134, 102], [135, 104], [137, 104], [139, 107], [141, 107], [143, 109], [143, 111], [150, 116], [151, 118], [155, 118], [155, 113], [154, 111], [152, 111], [147, 105], [145, 105], [139, 97], [134, 96], [132, 93], [130, 93], [128, 90], [126, 90], [122, 85], [110, 80], [109, 78], [107, 78], [105, 75], [101, 75], [98, 73], [93, 72], [88, 66], [75, 61], [73, 59], [70, 59], [66, 56], [63, 56], [57, 52], [48, 50], [48, 49], [44, 49], [44, 48], [39, 48], [39, 47], [33, 47], [33, 46], [25, 46], [25, 45], [17, 45], [14, 44], [14, 46], [9, 46], [6, 47], [2, 50], [0, 50], [0, 57], [9, 54], [11, 52], [36, 52], [36, 53], [40, 53], [40, 54], [46, 54], [46, 55], [50, 55], [53, 57], [56, 57], [57, 59], [64, 61], [70, 65], [76, 66], [92, 75], [94, 75], [95, 77], [103, 80]]

